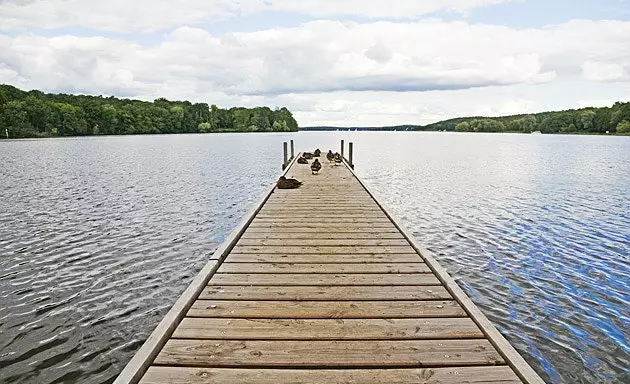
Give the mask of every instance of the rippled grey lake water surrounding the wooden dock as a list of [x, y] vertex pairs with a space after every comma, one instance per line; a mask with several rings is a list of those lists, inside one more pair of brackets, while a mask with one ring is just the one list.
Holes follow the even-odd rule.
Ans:
[[281, 142], [342, 137], [548, 382], [630, 382], [630, 138], [358, 132], [0, 142], [0, 382], [111, 382]]

